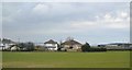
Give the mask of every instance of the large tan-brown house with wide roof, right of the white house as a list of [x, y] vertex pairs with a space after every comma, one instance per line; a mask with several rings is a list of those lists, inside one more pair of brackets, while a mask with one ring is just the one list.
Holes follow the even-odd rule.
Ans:
[[81, 50], [81, 44], [74, 39], [68, 39], [61, 44], [62, 50], [68, 50], [68, 51], [80, 51]]

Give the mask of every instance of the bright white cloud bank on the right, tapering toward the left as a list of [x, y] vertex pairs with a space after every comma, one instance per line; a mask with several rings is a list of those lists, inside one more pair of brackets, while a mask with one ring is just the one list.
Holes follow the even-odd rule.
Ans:
[[73, 28], [79, 28], [79, 30], [96, 30], [96, 28], [111, 28], [111, 30], [127, 30], [130, 26], [129, 23], [129, 13], [127, 12], [120, 12], [117, 13], [117, 15], [111, 15], [110, 13], [107, 13], [102, 16], [95, 16], [97, 18], [96, 21], [82, 21], [82, 22], [74, 22], [69, 26]]

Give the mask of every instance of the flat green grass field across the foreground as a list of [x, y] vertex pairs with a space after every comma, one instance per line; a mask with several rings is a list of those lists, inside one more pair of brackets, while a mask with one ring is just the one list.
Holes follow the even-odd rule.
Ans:
[[10, 52], [3, 68], [129, 68], [129, 51], [107, 52]]

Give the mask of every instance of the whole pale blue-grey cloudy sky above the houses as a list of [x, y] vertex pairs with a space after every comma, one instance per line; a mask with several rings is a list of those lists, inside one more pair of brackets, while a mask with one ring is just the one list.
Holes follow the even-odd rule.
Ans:
[[130, 42], [129, 2], [4, 2], [2, 36], [44, 43], [67, 37], [85, 44]]

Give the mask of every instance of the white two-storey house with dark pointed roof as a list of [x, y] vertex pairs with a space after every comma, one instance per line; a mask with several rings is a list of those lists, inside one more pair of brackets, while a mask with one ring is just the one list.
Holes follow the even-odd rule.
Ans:
[[57, 42], [50, 39], [47, 42], [44, 43], [44, 48], [47, 50], [57, 50], [58, 49], [58, 44]]

